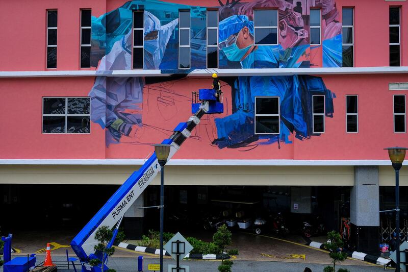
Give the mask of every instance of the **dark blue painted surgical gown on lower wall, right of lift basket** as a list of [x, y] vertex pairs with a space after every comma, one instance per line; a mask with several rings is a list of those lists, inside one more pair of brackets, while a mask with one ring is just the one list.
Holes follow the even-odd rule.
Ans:
[[[326, 115], [333, 114], [333, 95], [321, 78], [311, 76], [238, 77], [233, 86], [233, 114], [216, 118], [218, 139], [213, 144], [241, 147], [251, 142], [271, 143], [278, 140], [290, 143], [288, 136], [296, 133], [299, 139], [313, 132], [312, 95], [326, 95]], [[279, 135], [256, 135], [254, 132], [254, 97], [278, 96], [281, 103]]]

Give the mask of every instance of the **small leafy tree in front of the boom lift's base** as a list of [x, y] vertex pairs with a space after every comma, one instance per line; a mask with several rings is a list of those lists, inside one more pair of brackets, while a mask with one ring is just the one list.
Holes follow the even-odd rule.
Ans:
[[[113, 232], [108, 226], [101, 226], [95, 233], [95, 239], [99, 242], [95, 245], [94, 249], [102, 254], [102, 261], [99, 259], [92, 259], [89, 263], [92, 266], [97, 266], [101, 263], [101, 271], [104, 272], [104, 264], [105, 264], [105, 254], [107, 256], [112, 256], [115, 253], [115, 248], [108, 249], [108, 243], [112, 239]], [[106, 272], [116, 272], [115, 269], [108, 269]]]

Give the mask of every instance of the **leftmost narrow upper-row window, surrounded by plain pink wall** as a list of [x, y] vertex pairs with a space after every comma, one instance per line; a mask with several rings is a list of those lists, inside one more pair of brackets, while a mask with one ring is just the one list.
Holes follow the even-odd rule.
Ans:
[[58, 12], [47, 10], [47, 68], [57, 68]]

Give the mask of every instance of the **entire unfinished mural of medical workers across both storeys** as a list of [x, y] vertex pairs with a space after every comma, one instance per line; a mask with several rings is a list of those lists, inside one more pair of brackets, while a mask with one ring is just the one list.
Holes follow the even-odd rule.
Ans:
[[[218, 9], [219, 68], [295, 68], [339, 67], [342, 63], [341, 22], [334, 0], [229, 0]], [[295, 3], [295, 4], [292, 4]], [[314, 6], [311, 6], [314, 3]], [[253, 10], [278, 8], [276, 45], [256, 45]], [[322, 11], [322, 42], [311, 47], [310, 8]], [[183, 74], [206, 68], [207, 7], [186, 6], [156, 0], [127, 2], [100, 17], [92, 17], [92, 65], [101, 73], [132, 68], [132, 12], [144, 10], [144, 69], [160, 69], [177, 73], [171, 77], [97, 77], [90, 90], [91, 120], [106, 130], [106, 143], [135, 143], [151, 123], [142, 116], [148, 107], [144, 95], [159, 94], [155, 103], [189, 107], [191, 97], [177, 92]], [[191, 14], [191, 68], [177, 69], [179, 60], [180, 9]], [[319, 53], [320, 51], [320, 53]], [[321, 56], [321, 58], [316, 57]], [[321, 78], [311, 76], [228, 77], [220, 78], [223, 88], [231, 89], [224, 96], [232, 109], [224, 116], [212, 118], [209, 144], [224, 149], [249, 146], [252, 143], [290, 143], [289, 135], [308, 139], [313, 134], [312, 95], [325, 95], [325, 114], [333, 117], [335, 95]], [[159, 84], [159, 87], [158, 87]], [[171, 87], [170, 87], [171, 86]], [[207, 87], [207, 86], [204, 86]], [[194, 91], [194, 90], [191, 90]], [[254, 97], [278, 96], [281, 103], [279, 135], [254, 133]], [[167, 104], [166, 104], [167, 103]], [[151, 106], [151, 105], [150, 105]], [[145, 109], [146, 110], [146, 109]], [[148, 112], [148, 111], [147, 111]], [[175, 115], [175, 117], [178, 117]], [[165, 116], [164, 116], [165, 118]], [[183, 121], [183, 120], [178, 120]], [[161, 128], [155, 128], [161, 130]], [[167, 132], [170, 134], [171, 132]], [[141, 143], [141, 142], [138, 142]]]

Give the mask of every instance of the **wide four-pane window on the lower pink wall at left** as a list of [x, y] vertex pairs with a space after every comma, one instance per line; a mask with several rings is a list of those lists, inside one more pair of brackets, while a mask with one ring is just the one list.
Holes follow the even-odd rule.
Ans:
[[43, 97], [42, 133], [89, 133], [90, 97]]

